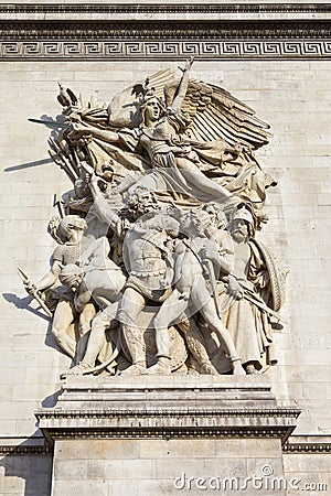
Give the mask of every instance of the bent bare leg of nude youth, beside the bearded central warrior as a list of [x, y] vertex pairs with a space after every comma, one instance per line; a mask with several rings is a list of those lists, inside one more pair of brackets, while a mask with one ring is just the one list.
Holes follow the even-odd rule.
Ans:
[[170, 374], [171, 357], [169, 355], [170, 338], [168, 327], [189, 305], [189, 302], [180, 296], [181, 293], [174, 289], [154, 316], [153, 325], [156, 328], [158, 362], [147, 369], [148, 374]]

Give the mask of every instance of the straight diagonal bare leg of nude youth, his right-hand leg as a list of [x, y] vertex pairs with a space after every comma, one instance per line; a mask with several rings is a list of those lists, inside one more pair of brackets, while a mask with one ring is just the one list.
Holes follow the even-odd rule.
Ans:
[[209, 292], [205, 284], [199, 284], [199, 287], [192, 290], [192, 301], [194, 306], [196, 306], [205, 322], [221, 336], [225, 353], [229, 357], [233, 367], [234, 375], [245, 375], [245, 370], [242, 367], [241, 359], [237, 356], [237, 352], [233, 342], [233, 338], [227, 331], [227, 328], [223, 325], [221, 319], [216, 313], [216, 309], [213, 300], [207, 298]]

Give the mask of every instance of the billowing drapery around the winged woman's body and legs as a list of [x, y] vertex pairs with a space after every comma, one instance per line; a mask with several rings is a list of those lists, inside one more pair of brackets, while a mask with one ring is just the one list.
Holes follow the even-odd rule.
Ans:
[[[178, 137], [169, 137], [164, 140], [163, 147], [160, 143], [160, 153], [154, 157], [147, 157], [143, 150], [143, 131], [141, 128], [116, 130], [120, 138], [118, 143], [109, 143], [105, 140], [94, 138], [88, 143], [89, 157], [98, 175], [104, 175], [104, 164], [109, 162], [114, 171], [114, 181], [117, 182], [121, 191], [126, 191], [137, 181], [145, 182], [146, 186], [159, 192], [168, 192], [174, 201], [184, 201], [190, 204], [192, 201], [203, 203], [220, 201], [220, 197], [212, 195], [210, 191], [202, 191], [194, 180], [194, 172], [179, 169], [174, 157], [191, 159], [196, 158], [196, 168], [206, 177], [206, 183], [213, 181], [223, 186], [229, 193], [241, 196], [244, 201], [254, 203], [256, 207], [261, 207], [266, 188], [275, 185], [275, 181], [261, 171], [257, 160], [246, 152], [241, 152], [234, 159], [228, 157], [228, 145], [223, 139], [209, 142], [193, 141], [183, 131], [180, 116], [174, 114], [164, 117], [179, 133]], [[89, 122], [93, 123], [93, 122]], [[172, 139], [174, 138], [174, 141]], [[168, 150], [168, 153], [167, 153]], [[226, 157], [227, 155], [227, 157]], [[109, 169], [109, 164], [108, 164]], [[135, 174], [130, 182], [129, 176]]]

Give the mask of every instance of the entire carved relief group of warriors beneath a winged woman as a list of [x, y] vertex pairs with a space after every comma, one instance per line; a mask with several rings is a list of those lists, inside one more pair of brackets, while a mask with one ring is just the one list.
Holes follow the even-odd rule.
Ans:
[[52, 312], [66, 374], [245, 375], [277, 363], [284, 284], [256, 237], [276, 185], [254, 154], [268, 125], [190, 78], [192, 63], [108, 108], [60, 85], [62, 118], [41, 121], [73, 191], [50, 223], [51, 271], [24, 283]]

